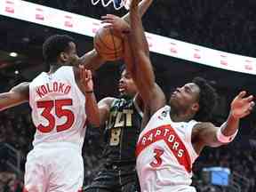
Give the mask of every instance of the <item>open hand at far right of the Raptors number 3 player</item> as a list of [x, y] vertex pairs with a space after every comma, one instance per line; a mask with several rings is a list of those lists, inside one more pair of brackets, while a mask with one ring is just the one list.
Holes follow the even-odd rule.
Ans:
[[231, 103], [230, 113], [235, 118], [243, 118], [252, 112], [252, 108], [255, 105], [253, 96], [245, 97], [245, 95], [246, 92], [240, 92]]

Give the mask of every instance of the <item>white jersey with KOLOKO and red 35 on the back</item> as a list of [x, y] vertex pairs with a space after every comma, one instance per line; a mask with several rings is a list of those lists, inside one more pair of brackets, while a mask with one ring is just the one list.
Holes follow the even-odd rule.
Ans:
[[49, 75], [45, 72], [29, 84], [29, 105], [36, 126], [33, 146], [68, 142], [83, 147], [85, 98], [76, 85], [73, 67], [63, 66]]

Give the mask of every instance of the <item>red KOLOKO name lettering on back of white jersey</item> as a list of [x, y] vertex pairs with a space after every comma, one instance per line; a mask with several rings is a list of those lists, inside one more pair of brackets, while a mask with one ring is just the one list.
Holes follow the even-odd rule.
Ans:
[[70, 90], [71, 86], [69, 84], [53, 82], [52, 84], [43, 84], [39, 86], [39, 88], [36, 90], [36, 93], [40, 98], [43, 98], [46, 94], [51, 92], [60, 92], [63, 94], [68, 94]]

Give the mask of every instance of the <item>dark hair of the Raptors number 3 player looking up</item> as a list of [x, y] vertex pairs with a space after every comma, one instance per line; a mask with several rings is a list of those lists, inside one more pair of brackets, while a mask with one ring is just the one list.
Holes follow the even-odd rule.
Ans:
[[196, 121], [209, 121], [212, 117], [213, 109], [216, 106], [218, 94], [212, 85], [202, 77], [196, 77], [192, 82], [200, 89], [199, 110], [194, 118]]

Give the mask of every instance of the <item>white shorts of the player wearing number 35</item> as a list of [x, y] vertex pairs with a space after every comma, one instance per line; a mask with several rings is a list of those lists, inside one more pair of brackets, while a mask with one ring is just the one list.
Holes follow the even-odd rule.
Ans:
[[28, 192], [76, 192], [83, 181], [84, 162], [76, 145], [42, 143], [28, 153], [24, 183]]

